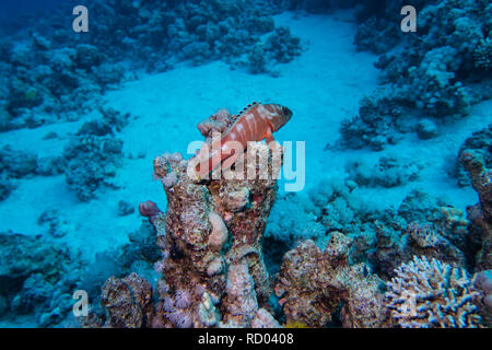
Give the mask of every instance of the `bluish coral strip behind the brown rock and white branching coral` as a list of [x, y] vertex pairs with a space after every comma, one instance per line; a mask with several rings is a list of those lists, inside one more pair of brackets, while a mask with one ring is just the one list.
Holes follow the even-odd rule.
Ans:
[[331, 178], [308, 198], [279, 197], [265, 234], [265, 244], [272, 248], [265, 256], [277, 272], [280, 257], [303, 240], [323, 247], [331, 233], [340, 232], [353, 241], [349, 261], [370, 264], [384, 279], [413, 255], [473, 266], [469, 224], [465, 212], [421, 191], [411, 191], [396, 210], [371, 209], [360, 199], [356, 183]]

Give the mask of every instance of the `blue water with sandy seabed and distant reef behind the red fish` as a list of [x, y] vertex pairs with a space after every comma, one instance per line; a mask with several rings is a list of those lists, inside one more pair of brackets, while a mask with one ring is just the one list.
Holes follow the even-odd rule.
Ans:
[[[80, 327], [73, 292], [101, 315], [110, 276], [155, 287], [168, 252], [139, 212], [167, 208], [153, 160], [189, 159], [200, 121], [253, 102], [293, 112], [273, 132], [293, 145], [262, 233], [273, 282], [288, 250], [335, 232], [384, 282], [420, 254], [470, 276], [491, 268], [460, 161], [468, 149], [491, 167], [483, 3], [419, 1], [417, 33], [400, 31], [399, 1], [91, 0], [87, 33], [72, 30], [75, 4], [0, 2], [0, 327]], [[445, 248], [415, 248], [412, 224]], [[382, 248], [382, 230], [397, 244]]]

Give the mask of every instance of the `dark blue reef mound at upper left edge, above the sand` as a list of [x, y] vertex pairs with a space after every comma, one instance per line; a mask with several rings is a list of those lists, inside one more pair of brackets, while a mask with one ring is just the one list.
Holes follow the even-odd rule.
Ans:
[[[54, 35], [49, 30], [43, 33]], [[12, 77], [4, 100], [8, 116], [1, 129], [78, 118], [73, 113], [89, 112], [105, 89], [121, 81], [122, 63], [102, 65], [108, 57], [101, 49], [86, 44], [63, 47], [68, 40], [36, 34], [31, 43], [12, 47], [0, 57], [7, 58], [2, 71]]]

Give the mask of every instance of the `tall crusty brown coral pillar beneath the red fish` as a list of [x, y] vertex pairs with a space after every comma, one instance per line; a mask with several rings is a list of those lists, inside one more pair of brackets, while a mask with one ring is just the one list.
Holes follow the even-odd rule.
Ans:
[[[226, 117], [222, 128], [234, 120], [224, 109], [218, 114]], [[204, 136], [210, 131], [207, 125], [216, 126], [216, 117], [200, 125]], [[249, 144], [247, 152], [259, 150], [270, 152], [258, 142]], [[246, 162], [246, 179], [197, 183], [187, 175], [188, 161], [180, 154], [155, 159], [154, 173], [166, 191], [167, 211], [164, 215], [151, 201], [140, 206], [140, 212], [151, 219], [162, 249], [162, 260], [155, 265], [162, 277], [156, 283], [159, 303], [152, 326], [249, 327], [254, 320], [258, 326], [273, 323], [266, 314], [272, 289], [260, 240], [277, 183], [274, 174], [261, 179], [262, 168], [272, 174], [270, 156], [260, 164]], [[246, 176], [251, 171], [254, 178]], [[166, 180], [169, 174], [173, 182]], [[126, 300], [127, 292], [119, 291], [119, 282], [109, 284], [116, 292], [110, 295]], [[125, 319], [134, 319], [142, 304], [113, 302], [110, 295], [103, 303], [112, 307], [106, 325], [127, 326]], [[127, 313], [132, 317], [127, 318]], [[143, 325], [138, 319], [131, 325]]]

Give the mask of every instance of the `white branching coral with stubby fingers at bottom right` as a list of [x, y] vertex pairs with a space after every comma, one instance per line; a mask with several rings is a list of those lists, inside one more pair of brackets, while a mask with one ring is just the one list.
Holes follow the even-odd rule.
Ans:
[[479, 327], [480, 293], [465, 269], [413, 256], [389, 281], [386, 299], [394, 322], [406, 328]]

